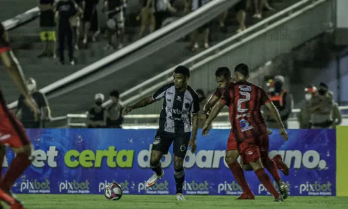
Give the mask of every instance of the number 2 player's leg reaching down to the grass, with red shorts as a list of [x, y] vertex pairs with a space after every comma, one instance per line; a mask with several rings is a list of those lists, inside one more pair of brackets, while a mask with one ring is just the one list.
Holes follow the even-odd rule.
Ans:
[[275, 201], [283, 201], [283, 196], [277, 192], [274, 185], [271, 183], [271, 179], [264, 172], [264, 167], [261, 161], [261, 155], [259, 147], [255, 144], [255, 139], [249, 139], [239, 144], [239, 150], [242, 154], [243, 161], [253, 167], [256, 176], [264, 185], [264, 187], [274, 196]]

